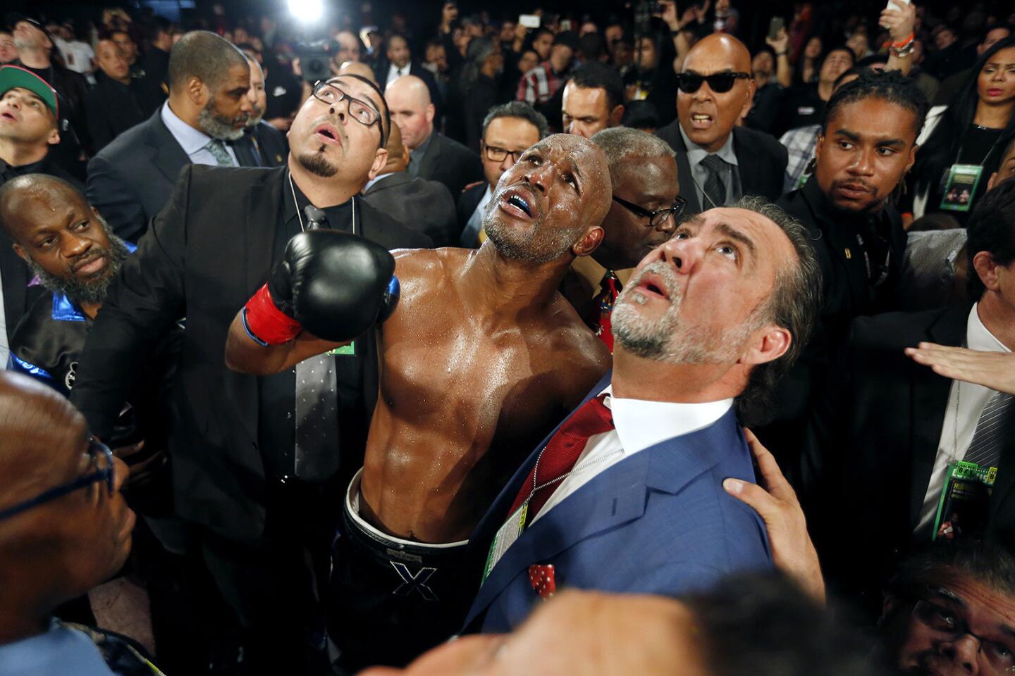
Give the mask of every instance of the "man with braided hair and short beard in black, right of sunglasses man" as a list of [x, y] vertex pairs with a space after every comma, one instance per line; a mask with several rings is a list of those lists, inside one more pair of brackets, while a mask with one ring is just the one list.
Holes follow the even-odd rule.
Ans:
[[774, 424], [756, 431], [769, 448], [800, 448], [810, 393], [853, 318], [894, 308], [905, 232], [890, 198], [912, 166], [926, 112], [912, 80], [862, 72], [828, 99], [811, 177], [776, 203], [810, 231], [824, 300], [810, 345], [780, 386]]

